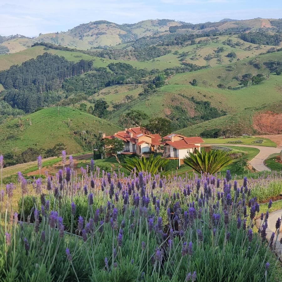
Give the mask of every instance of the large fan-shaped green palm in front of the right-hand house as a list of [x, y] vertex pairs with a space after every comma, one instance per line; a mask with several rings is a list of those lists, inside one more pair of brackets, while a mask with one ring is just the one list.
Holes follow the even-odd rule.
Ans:
[[196, 154], [189, 153], [189, 156], [184, 159], [185, 165], [191, 166], [197, 172], [210, 174], [216, 173], [231, 162], [232, 159], [221, 150], [197, 151]]

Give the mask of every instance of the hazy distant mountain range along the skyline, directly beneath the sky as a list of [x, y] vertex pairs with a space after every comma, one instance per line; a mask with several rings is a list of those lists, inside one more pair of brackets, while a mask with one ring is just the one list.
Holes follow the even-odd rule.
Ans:
[[[276, 19], [255, 18], [249, 20], [224, 19], [215, 23], [189, 24], [170, 19], [144, 20], [135, 24], [115, 24], [105, 20], [80, 24], [65, 32], [39, 34], [28, 38], [22, 35], [1, 37], [0, 44], [8, 48], [8, 53], [16, 53], [31, 47], [35, 42], [48, 42], [81, 50], [93, 49], [98, 46], [118, 46], [134, 42], [142, 37], [159, 36], [170, 32], [201, 33], [212, 30], [222, 31], [257, 31], [277, 30]], [[123, 45], [120, 46], [119, 45]]]

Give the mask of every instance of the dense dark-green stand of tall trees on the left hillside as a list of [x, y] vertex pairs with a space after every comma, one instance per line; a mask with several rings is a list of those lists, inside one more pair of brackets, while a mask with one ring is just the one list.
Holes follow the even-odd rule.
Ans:
[[0, 83], [5, 88], [1, 93], [3, 100], [27, 113], [59, 102], [62, 96], [57, 90], [63, 81], [91, 70], [92, 63], [86, 60], [74, 63], [44, 53], [20, 66], [13, 65], [0, 72]]

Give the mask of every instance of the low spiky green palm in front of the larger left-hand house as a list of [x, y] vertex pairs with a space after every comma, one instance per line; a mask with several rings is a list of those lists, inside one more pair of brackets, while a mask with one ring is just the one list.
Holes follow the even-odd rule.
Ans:
[[128, 158], [126, 157], [124, 159], [124, 163], [122, 163], [122, 166], [129, 171], [134, 170], [136, 168], [136, 173], [141, 171], [146, 171], [148, 173], [151, 173], [151, 175], [160, 173], [161, 175], [167, 174], [167, 172], [162, 171], [162, 169], [167, 165], [169, 162], [168, 159], [162, 159], [161, 156], [154, 156], [153, 154], [150, 155], [149, 158], [139, 158], [139, 157], [133, 157]]

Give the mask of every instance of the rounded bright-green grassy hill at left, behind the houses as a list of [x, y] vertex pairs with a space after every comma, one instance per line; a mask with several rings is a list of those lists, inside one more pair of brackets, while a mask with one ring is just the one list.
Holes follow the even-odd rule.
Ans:
[[12, 149], [23, 151], [28, 147], [48, 149], [57, 143], [64, 143], [69, 154], [78, 153], [83, 149], [74, 137], [73, 132], [76, 129], [89, 130], [95, 134], [100, 131], [111, 134], [120, 128], [70, 107], [59, 107], [59, 116], [58, 107], [46, 108], [22, 118], [21, 127], [18, 119], [2, 124], [0, 154], [8, 153]]

